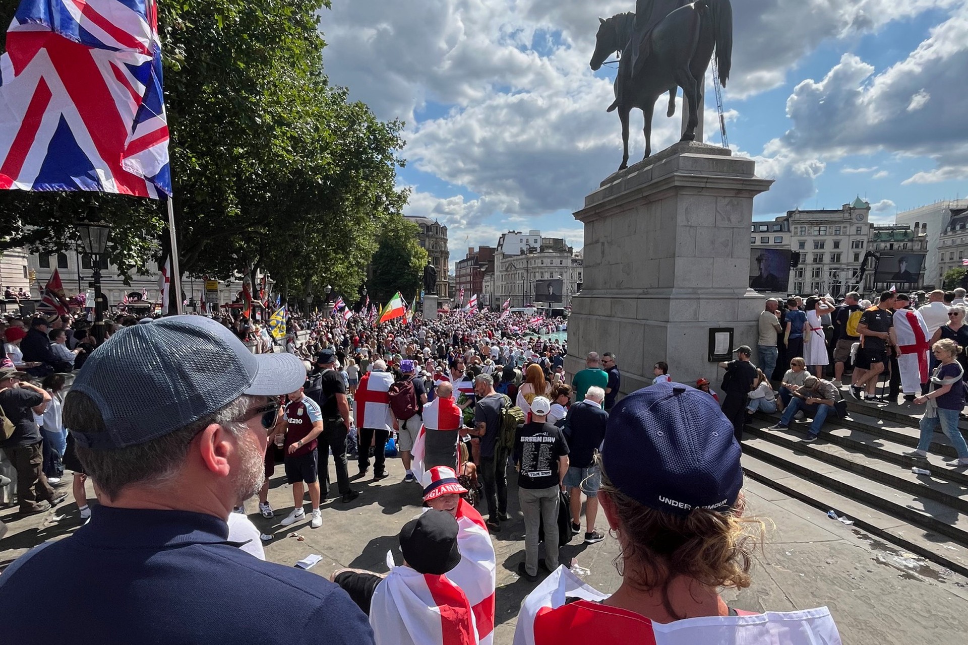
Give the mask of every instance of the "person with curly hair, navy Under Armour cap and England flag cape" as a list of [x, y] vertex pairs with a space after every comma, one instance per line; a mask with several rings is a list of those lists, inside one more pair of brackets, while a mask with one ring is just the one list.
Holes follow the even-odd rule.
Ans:
[[[705, 393], [661, 383], [622, 399], [598, 457], [621, 584], [605, 596], [559, 569], [522, 604], [515, 642], [840, 643], [826, 607], [760, 614], [719, 596], [751, 585], [765, 533], [744, 514], [740, 456], [732, 424]], [[542, 594], [552, 599], [545, 610]]]

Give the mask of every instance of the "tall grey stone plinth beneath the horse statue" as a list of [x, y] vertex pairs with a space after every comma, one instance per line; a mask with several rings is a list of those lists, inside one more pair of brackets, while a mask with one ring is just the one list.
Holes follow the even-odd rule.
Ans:
[[748, 289], [753, 197], [771, 180], [754, 162], [701, 143], [678, 143], [610, 176], [585, 198], [582, 291], [572, 299], [565, 370], [590, 351], [617, 354], [621, 393], [651, 383], [666, 361], [674, 380], [718, 385], [714, 327], [733, 348], [756, 345], [764, 298]]

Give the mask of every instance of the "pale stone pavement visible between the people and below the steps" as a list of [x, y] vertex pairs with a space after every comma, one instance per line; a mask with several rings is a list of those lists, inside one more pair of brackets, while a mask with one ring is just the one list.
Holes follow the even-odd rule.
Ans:
[[[398, 459], [388, 459], [387, 465], [390, 477], [382, 482], [368, 478], [353, 481], [355, 488], [364, 491], [357, 500], [349, 504], [332, 498], [325, 501], [319, 529], [311, 529], [308, 519], [289, 527], [279, 525], [291, 510], [292, 498], [282, 477], [283, 469], [277, 466], [269, 497], [278, 510], [277, 517], [264, 519], [257, 513], [255, 500], [246, 505], [257, 527], [274, 535], [274, 540], [265, 543], [266, 557], [292, 565], [316, 553], [322, 561], [312, 572], [324, 576], [341, 567], [386, 571], [385, 556], [390, 549], [396, 551], [400, 562], [397, 534], [410, 517], [419, 513], [420, 487], [402, 482], [403, 468]], [[355, 463], [351, 462], [350, 474], [355, 472]], [[335, 476], [332, 479], [335, 482]], [[495, 537], [497, 645], [510, 645], [518, 607], [534, 586], [516, 574], [524, 558], [524, 524], [513, 479], [512, 474], [509, 513], [514, 519]], [[65, 481], [70, 482], [70, 476]], [[731, 605], [782, 611], [826, 604], [844, 643], [851, 645], [883, 645], [901, 642], [902, 638], [934, 645], [964, 642], [968, 579], [905, 554], [763, 484], [747, 479], [746, 495], [750, 514], [771, 520], [773, 527], [765, 548], [755, 555], [752, 587], [724, 592]], [[0, 519], [10, 524], [10, 533], [0, 541], [0, 567], [34, 544], [69, 535], [79, 524], [73, 502], [62, 505], [56, 515], [12, 521], [14, 516], [15, 509], [0, 511]], [[304, 540], [287, 537], [293, 532]], [[611, 538], [585, 545], [578, 536], [561, 548], [561, 559], [575, 559], [590, 570], [584, 579], [603, 591], [614, 590], [620, 582], [612, 564], [617, 554], [618, 544]], [[57, 588], [57, 581], [51, 580], [51, 592]]]

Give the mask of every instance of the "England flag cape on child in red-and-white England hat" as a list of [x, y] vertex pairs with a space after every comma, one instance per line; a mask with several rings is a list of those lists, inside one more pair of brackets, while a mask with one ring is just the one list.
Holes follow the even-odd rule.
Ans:
[[457, 507], [457, 525], [461, 562], [447, 572], [447, 577], [468, 597], [480, 644], [491, 645], [494, 640], [495, 572], [498, 569], [494, 544], [481, 513], [477, 513], [465, 499]]

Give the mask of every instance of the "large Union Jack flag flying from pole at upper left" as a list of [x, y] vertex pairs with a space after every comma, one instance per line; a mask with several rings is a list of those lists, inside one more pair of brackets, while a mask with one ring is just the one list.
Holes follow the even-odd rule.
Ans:
[[154, 0], [22, 0], [0, 71], [0, 189], [171, 194]]

